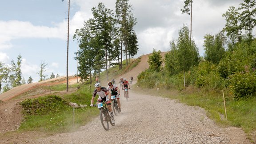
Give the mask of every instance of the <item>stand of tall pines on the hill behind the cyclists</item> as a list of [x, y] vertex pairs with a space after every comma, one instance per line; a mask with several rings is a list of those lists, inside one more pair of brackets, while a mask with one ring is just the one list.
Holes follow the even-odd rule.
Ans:
[[93, 18], [84, 21], [84, 26], [76, 30], [73, 36], [78, 40], [79, 50], [75, 60], [78, 60], [79, 76], [82, 80], [99, 76], [102, 70], [118, 65], [122, 68], [123, 56], [126, 65], [130, 58], [138, 52], [138, 39], [134, 26], [136, 18], [128, 0], [116, 0], [116, 11], [99, 3], [92, 8]]

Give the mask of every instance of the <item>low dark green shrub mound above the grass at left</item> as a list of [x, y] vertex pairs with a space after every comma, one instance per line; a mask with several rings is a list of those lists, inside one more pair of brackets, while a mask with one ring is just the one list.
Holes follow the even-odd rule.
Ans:
[[47, 115], [68, 108], [67, 102], [55, 95], [26, 99], [20, 102], [20, 105], [26, 115]]

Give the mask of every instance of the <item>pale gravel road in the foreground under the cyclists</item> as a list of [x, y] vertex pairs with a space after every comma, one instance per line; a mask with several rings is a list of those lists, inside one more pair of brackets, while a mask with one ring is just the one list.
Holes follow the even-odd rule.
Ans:
[[[200, 107], [129, 91], [121, 95], [116, 126], [105, 131], [99, 117], [76, 132], [61, 133], [33, 144], [250, 144], [240, 128], [220, 128]], [[27, 142], [31, 143], [31, 142]]]

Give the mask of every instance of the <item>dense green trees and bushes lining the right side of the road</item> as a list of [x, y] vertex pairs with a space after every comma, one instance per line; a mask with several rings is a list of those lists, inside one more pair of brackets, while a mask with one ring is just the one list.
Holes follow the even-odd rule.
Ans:
[[[192, 0], [185, 1], [185, 6], [189, 4], [192, 6]], [[149, 88], [227, 89], [236, 99], [255, 96], [255, 0], [244, 0], [239, 8], [231, 6], [222, 16], [226, 19], [223, 30], [204, 36], [204, 56], [198, 55], [189, 28], [183, 25], [178, 38], [170, 42], [170, 50], [164, 56], [164, 68], [161, 68], [160, 51], [153, 50], [149, 69], [138, 76], [138, 82]]]

